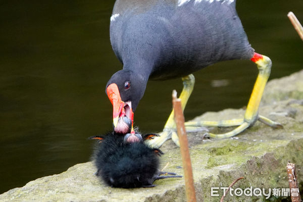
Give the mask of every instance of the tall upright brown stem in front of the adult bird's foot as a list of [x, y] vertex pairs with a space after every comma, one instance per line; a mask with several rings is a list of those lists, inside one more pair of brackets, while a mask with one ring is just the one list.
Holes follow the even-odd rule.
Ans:
[[175, 122], [177, 125], [177, 133], [180, 142], [180, 150], [182, 156], [182, 164], [184, 169], [184, 180], [185, 180], [185, 192], [187, 201], [196, 201], [194, 183], [192, 177], [192, 167], [189, 156], [188, 140], [186, 136], [186, 130], [184, 125], [184, 115], [181, 107], [181, 99], [177, 98], [177, 91], [174, 90], [173, 94], [173, 106], [175, 113]]

